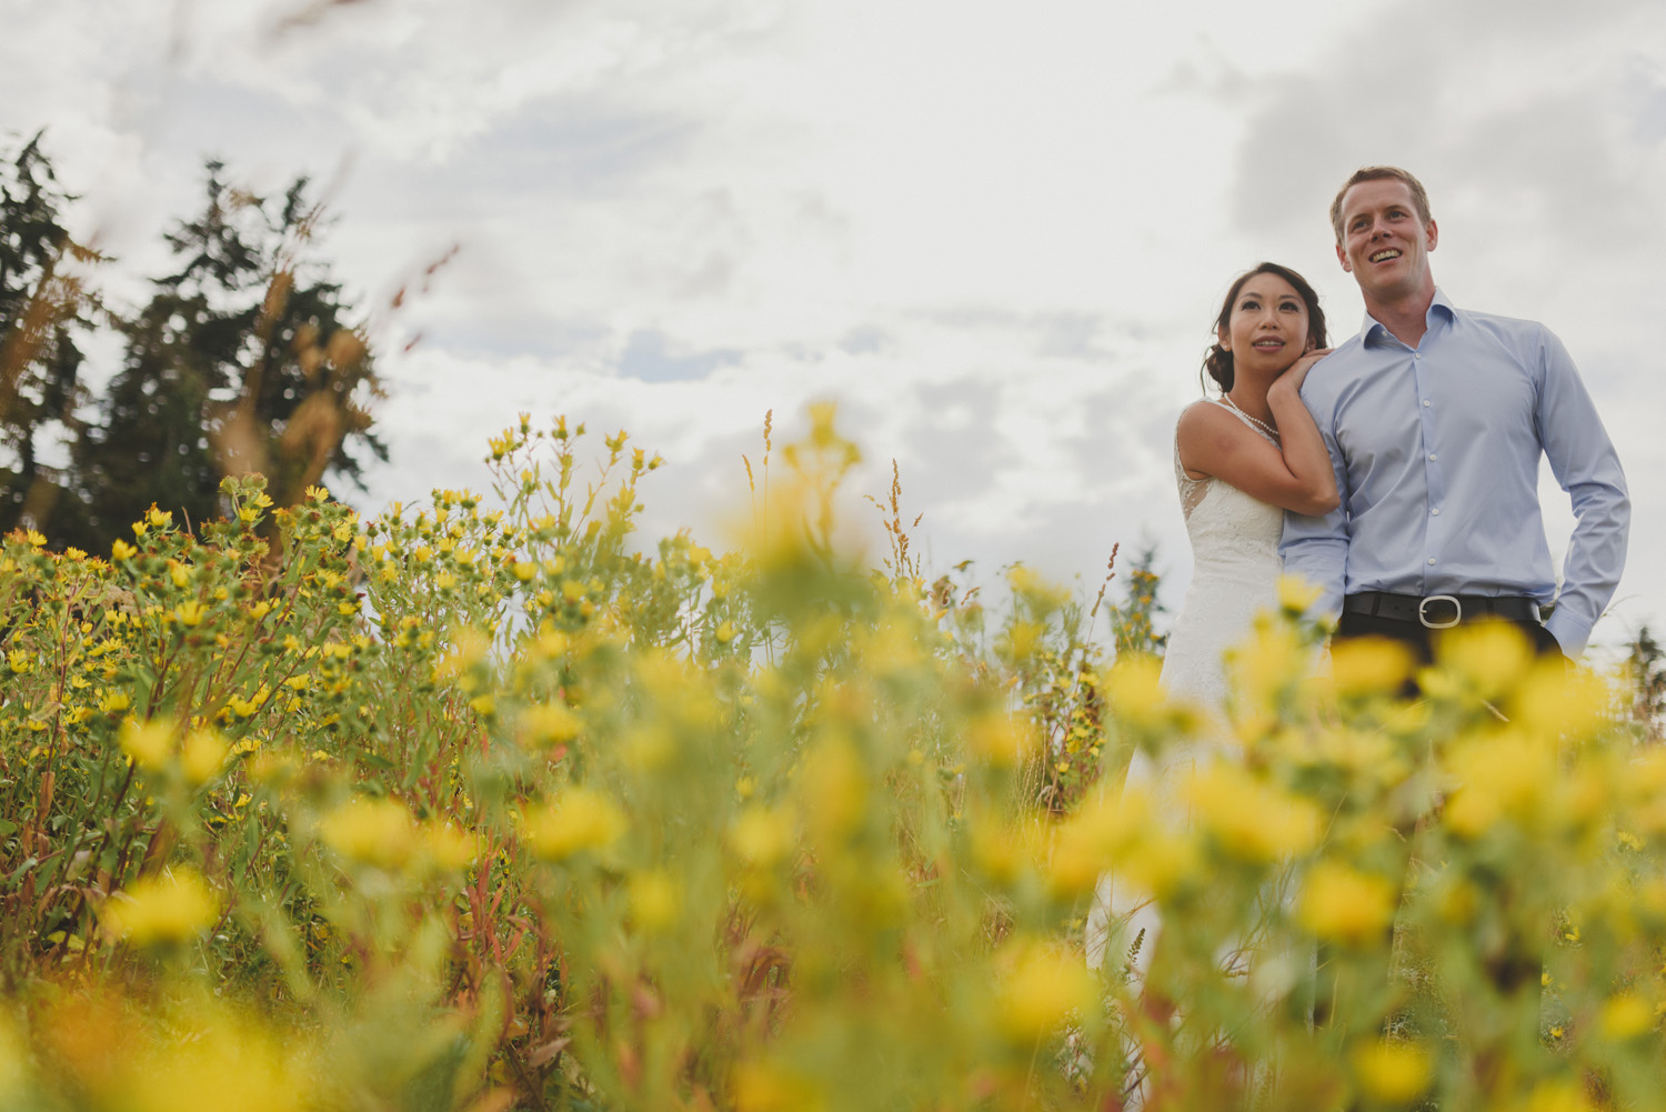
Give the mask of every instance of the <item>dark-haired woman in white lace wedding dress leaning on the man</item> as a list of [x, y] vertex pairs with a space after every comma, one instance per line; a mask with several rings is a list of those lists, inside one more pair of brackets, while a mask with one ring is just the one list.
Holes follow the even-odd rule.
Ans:
[[[1328, 513], [1336, 473], [1298, 390], [1328, 353], [1318, 293], [1294, 270], [1264, 262], [1233, 282], [1215, 322], [1203, 368], [1221, 397], [1195, 402], [1175, 430], [1175, 478], [1191, 540], [1191, 587], [1163, 659], [1163, 685], [1223, 720], [1223, 654], [1278, 602], [1278, 540], [1284, 510]], [[1183, 820], [1185, 780], [1208, 744], [1136, 752], [1125, 792], [1138, 787], [1171, 820]], [[1161, 920], [1110, 874], [1088, 915], [1088, 965], [1100, 969], [1113, 927], [1145, 932], [1133, 972], [1143, 977]]]

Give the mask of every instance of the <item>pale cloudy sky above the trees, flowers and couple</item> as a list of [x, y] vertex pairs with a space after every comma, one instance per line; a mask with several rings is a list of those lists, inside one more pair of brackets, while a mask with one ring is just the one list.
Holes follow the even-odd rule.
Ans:
[[[47, 128], [112, 300], [167, 272], [205, 157], [328, 197], [320, 250], [387, 387], [392, 460], [342, 490], [362, 508], [485, 488], [490, 435], [566, 413], [666, 458], [646, 533], [721, 543], [765, 413], [780, 447], [833, 400], [851, 492], [895, 460], [930, 570], [1091, 592], [1113, 545], [1155, 547], [1170, 610], [1173, 427], [1226, 287], [1283, 262], [1354, 332], [1326, 210], [1404, 165], [1441, 288], [1548, 323], [1619, 450], [1631, 555], [1596, 644], [1666, 619], [1658, 0], [0, 0], [0, 138]], [[1541, 493], [1559, 562], [1548, 468]], [[878, 555], [878, 513], [851, 517]]]

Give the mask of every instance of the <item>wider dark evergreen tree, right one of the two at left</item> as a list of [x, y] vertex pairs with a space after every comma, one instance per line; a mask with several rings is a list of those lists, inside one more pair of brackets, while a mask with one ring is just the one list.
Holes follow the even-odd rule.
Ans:
[[180, 268], [122, 325], [100, 427], [75, 447], [68, 543], [108, 547], [152, 503], [212, 520], [227, 473], [262, 472], [290, 505], [327, 470], [362, 487], [363, 450], [387, 460], [365, 410], [378, 393], [370, 352], [313, 257], [322, 208], [308, 180], [273, 200], [232, 188], [223, 170], [207, 163], [202, 213], [167, 235]]

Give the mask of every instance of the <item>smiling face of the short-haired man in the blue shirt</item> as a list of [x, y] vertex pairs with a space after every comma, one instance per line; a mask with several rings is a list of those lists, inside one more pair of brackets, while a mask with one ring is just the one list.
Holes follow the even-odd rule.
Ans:
[[1368, 302], [1391, 303], [1434, 292], [1429, 252], [1439, 238], [1423, 223], [1411, 188], [1398, 178], [1359, 182], [1343, 195], [1343, 242], [1336, 258]]

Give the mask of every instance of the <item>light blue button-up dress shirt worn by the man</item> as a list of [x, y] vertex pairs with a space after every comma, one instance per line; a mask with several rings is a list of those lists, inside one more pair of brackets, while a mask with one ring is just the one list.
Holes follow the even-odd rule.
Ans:
[[[1571, 657], [1619, 584], [1631, 500], [1614, 445], [1549, 328], [1454, 308], [1434, 292], [1416, 348], [1369, 315], [1301, 387], [1341, 505], [1284, 515], [1284, 572], [1344, 594], [1554, 599]], [[1561, 595], [1539, 517], [1539, 455], [1578, 518]]]

